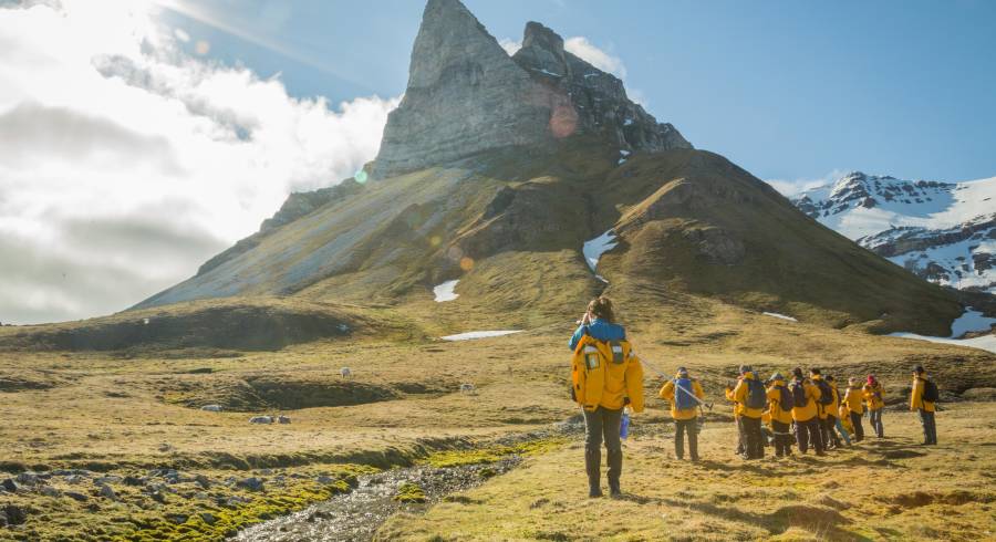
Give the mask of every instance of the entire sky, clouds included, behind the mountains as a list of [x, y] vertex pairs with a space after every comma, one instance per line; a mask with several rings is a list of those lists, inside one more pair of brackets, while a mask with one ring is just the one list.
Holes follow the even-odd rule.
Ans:
[[[996, 1], [466, 3], [499, 40], [553, 28], [785, 192], [996, 176]], [[126, 309], [352, 176], [423, 6], [0, 0], [0, 322]]]

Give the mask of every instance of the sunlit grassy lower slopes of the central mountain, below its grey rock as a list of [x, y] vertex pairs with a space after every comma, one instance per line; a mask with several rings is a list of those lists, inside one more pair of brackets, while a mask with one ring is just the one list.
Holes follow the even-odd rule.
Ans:
[[[574, 138], [354, 187], [141, 306], [279, 295], [536, 327], [602, 288], [580, 249], [614, 227], [621, 243], [600, 268], [609, 292], [651, 312], [668, 310], [661, 288], [876, 332], [946, 335], [962, 312], [953, 293], [820, 226], [720, 156], [619, 156]], [[461, 280], [459, 311], [427, 304], [450, 279]]]

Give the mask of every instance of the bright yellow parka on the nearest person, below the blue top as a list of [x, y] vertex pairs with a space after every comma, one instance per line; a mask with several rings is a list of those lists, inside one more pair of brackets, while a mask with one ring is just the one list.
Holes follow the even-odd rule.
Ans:
[[643, 366], [629, 341], [599, 341], [584, 335], [571, 357], [574, 400], [585, 410], [619, 410], [630, 399], [634, 413], [643, 411]]

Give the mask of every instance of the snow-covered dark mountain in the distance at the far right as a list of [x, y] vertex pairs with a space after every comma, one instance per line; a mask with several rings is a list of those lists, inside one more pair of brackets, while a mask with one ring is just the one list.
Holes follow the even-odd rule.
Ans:
[[996, 177], [940, 183], [854, 171], [792, 202], [924, 279], [996, 293]]

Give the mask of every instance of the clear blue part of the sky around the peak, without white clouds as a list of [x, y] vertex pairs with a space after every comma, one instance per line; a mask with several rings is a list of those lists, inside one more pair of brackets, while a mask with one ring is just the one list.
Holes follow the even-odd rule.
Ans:
[[[764, 179], [862, 169], [996, 175], [996, 2], [468, 0], [496, 38], [528, 20], [620, 58], [626, 86], [697, 147]], [[208, 0], [168, 11], [209, 55], [331, 102], [404, 91], [423, 3]], [[255, 42], [255, 43], [253, 43]], [[272, 44], [279, 44], [281, 51]]]

